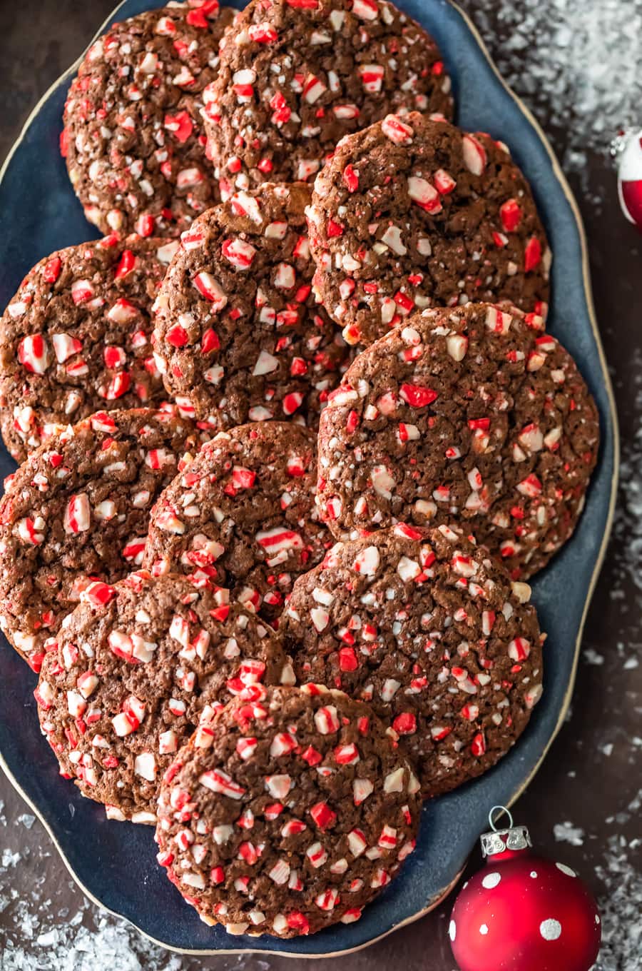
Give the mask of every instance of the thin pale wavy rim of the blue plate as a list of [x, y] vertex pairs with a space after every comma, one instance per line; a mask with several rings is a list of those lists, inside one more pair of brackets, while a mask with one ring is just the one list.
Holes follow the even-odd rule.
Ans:
[[[591, 582], [587, 590], [587, 595], [584, 602], [584, 609], [582, 611], [582, 617], [580, 619], [580, 624], [579, 624], [577, 636], [575, 639], [573, 665], [568, 678], [568, 684], [566, 686], [566, 690], [563, 696], [563, 701], [560, 707], [558, 720], [556, 721], [553, 731], [549, 736], [548, 742], [546, 743], [546, 746], [544, 747], [537, 762], [530, 770], [529, 775], [523, 781], [521, 786], [512, 794], [510, 800], [508, 800], [508, 802], [506, 803], [506, 808], [509, 809], [511, 806], [515, 804], [515, 802], [517, 802], [517, 800], [524, 793], [524, 791], [530, 786], [530, 783], [539, 772], [539, 769], [541, 768], [542, 763], [544, 762], [544, 759], [549, 753], [551, 746], [555, 742], [560, 732], [560, 729], [562, 728], [562, 723], [566, 717], [566, 713], [568, 712], [568, 707], [571, 702], [573, 690], [575, 687], [575, 681], [577, 677], [577, 668], [579, 663], [582, 639], [584, 636], [586, 619], [589, 612], [589, 608], [593, 601], [595, 586], [597, 584], [597, 579], [599, 577], [599, 574], [601, 573], [602, 565], [604, 563], [604, 557], [606, 555], [606, 549], [613, 529], [613, 520], [615, 516], [615, 507], [616, 507], [617, 494], [618, 494], [618, 483], [619, 483], [619, 477], [620, 477], [620, 454], [621, 454], [620, 427], [619, 427], [619, 421], [618, 421], [618, 412], [616, 408], [615, 395], [613, 392], [613, 384], [611, 382], [611, 376], [609, 374], [608, 364], [606, 361], [606, 356], [604, 353], [604, 348], [602, 346], [601, 336], [597, 325], [597, 318], [595, 316], [593, 286], [591, 283], [591, 268], [589, 263], [589, 247], [587, 242], [586, 230], [584, 227], [584, 221], [582, 219], [582, 215], [580, 213], [580, 209], [577, 204], [575, 195], [570, 185], [568, 184], [566, 176], [563, 173], [560, 160], [557, 156], [556, 151], [554, 151], [552, 145], [550, 144], [548, 136], [544, 132], [537, 118], [534, 117], [534, 115], [530, 112], [530, 108], [528, 108], [527, 105], [525, 105], [525, 103], [513, 91], [510, 85], [504, 81], [503, 77], [499, 73], [498, 66], [493, 60], [490, 54], [490, 51], [486, 47], [486, 44], [481, 34], [479, 33], [479, 30], [477, 29], [476, 25], [473, 23], [473, 21], [465, 12], [465, 10], [460, 6], [460, 4], [455, 2], [455, 0], [444, 0], [444, 2], [446, 2], [448, 6], [451, 7], [456, 12], [456, 14], [458, 14], [459, 17], [462, 18], [462, 20], [465, 23], [465, 26], [469, 30], [478, 49], [480, 50], [480, 53], [482, 54], [488, 66], [491, 68], [493, 74], [498, 80], [498, 83], [501, 85], [505, 93], [513, 101], [518, 111], [530, 123], [530, 126], [533, 128], [535, 134], [539, 138], [541, 144], [543, 145], [545, 151], [547, 152], [550, 158], [551, 167], [553, 169], [555, 178], [558, 184], [560, 184], [560, 187], [562, 188], [562, 192], [566, 198], [566, 201], [568, 202], [569, 208], [571, 210], [571, 213], [575, 220], [575, 224], [577, 226], [578, 236], [580, 240], [580, 250], [581, 250], [581, 256], [582, 256], [582, 282], [584, 287], [584, 295], [586, 299], [588, 317], [591, 323], [591, 329], [593, 331], [595, 347], [597, 349], [599, 366], [600, 366], [602, 378], [604, 381], [604, 390], [606, 392], [606, 398], [608, 402], [608, 413], [611, 419], [611, 425], [612, 425], [612, 431], [613, 431], [613, 471], [611, 475], [609, 506], [607, 511], [604, 532], [602, 534], [602, 541], [601, 541], [597, 556], [595, 558], [594, 568], [591, 574]], [[75, 73], [78, 70], [78, 68], [80, 67], [80, 63], [83, 57], [85, 56], [87, 50], [89, 50], [89, 48], [91, 48], [91, 46], [96, 42], [96, 40], [107, 30], [109, 25], [113, 22], [114, 17], [117, 17], [118, 12], [121, 10], [122, 7], [125, 6], [126, 3], [127, 3], [127, 0], [120, 0], [120, 3], [118, 3], [117, 6], [112, 10], [112, 13], [109, 15], [109, 17], [105, 18], [105, 20], [102, 22], [98, 30], [95, 32], [95, 34], [93, 35], [93, 37], [91, 38], [87, 46], [84, 48], [84, 50], [81, 51], [79, 57], [74, 61], [73, 64], [71, 64], [67, 68], [66, 71], [63, 71], [61, 75], [59, 75], [51, 84], [49, 84], [47, 90], [39, 98], [34, 108], [29, 112], [28, 116], [24, 120], [24, 123], [22, 124], [22, 127], [20, 128], [16, 141], [13, 143], [11, 149], [7, 153], [7, 156], [2, 164], [2, 167], [0, 167], [0, 184], [3, 182], [7, 169], [9, 168], [14, 158], [14, 155], [16, 154], [16, 151], [20, 148], [22, 142], [24, 141], [26, 134], [29, 128], [31, 127], [32, 122], [40, 114], [41, 110], [45, 106], [45, 103], [48, 101], [48, 98], [50, 97], [50, 95], [53, 93], [53, 91], [56, 88], [59, 87], [60, 84], [65, 82], [68, 78], [71, 77], [73, 73]], [[570, 542], [572, 542], [572, 537]], [[217, 954], [223, 954], [223, 955], [268, 954], [268, 955], [273, 955], [275, 957], [289, 957], [293, 959], [304, 958], [306, 960], [319, 960], [327, 957], [340, 957], [348, 954], [356, 954], [359, 951], [364, 951], [366, 948], [369, 948], [370, 945], [376, 944], [378, 941], [383, 940], [385, 937], [388, 937], [390, 934], [395, 933], [396, 931], [400, 930], [402, 927], [408, 926], [409, 924], [414, 923], [415, 921], [419, 921], [421, 920], [421, 918], [426, 917], [428, 914], [430, 914], [448, 896], [452, 888], [459, 883], [465, 869], [463, 868], [462, 870], [460, 870], [457, 876], [446, 887], [442, 887], [436, 894], [434, 894], [430, 902], [421, 910], [417, 911], [415, 914], [410, 915], [405, 920], [400, 921], [394, 926], [389, 927], [387, 930], [383, 931], [383, 933], [381, 934], [378, 934], [376, 937], [370, 938], [369, 941], [365, 941], [363, 944], [356, 945], [353, 948], [342, 949], [340, 951], [329, 951], [323, 954], [305, 954], [305, 953], [293, 954], [292, 952], [265, 950], [263, 948], [232, 948], [229, 950], [226, 948], [216, 948], [211, 950], [205, 950], [205, 949], [192, 950], [188, 948], [178, 948], [172, 944], [168, 944], [165, 941], [160, 941], [157, 938], [153, 937], [151, 934], [148, 934], [142, 927], [138, 925], [138, 923], [136, 923], [136, 921], [133, 921], [131, 918], [125, 917], [124, 915], [119, 914], [117, 911], [112, 910], [111, 907], [108, 907], [102, 900], [100, 900], [89, 889], [87, 889], [87, 887], [84, 886], [84, 884], [80, 880], [80, 877], [73, 869], [70, 861], [67, 859], [67, 856], [64, 853], [62, 847], [58, 843], [58, 840], [56, 839], [55, 834], [53, 833], [53, 831], [51, 830], [48, 824], [48, 820], [43, 816], [39, 807], [32, 802], [32, 800], [29, 798], [29, 796], [25, 793], [23, 788], [17, 782], [14, 773], [9, 768], [7, 762], [5, 761], [4, 755], [1, 751], [0, 751], [0, 768], [2, 768], [5, 776], [9, 780], [12, 787], [16, 790], [20, 798], [23, 799], [23, 801], [27, 804], [27, 806], [31, 809], [31, 811], [34, 813], [36, 818], [40, 821], [40, 823], [45, 828], [45, 831], [47, 832], [48, 837], [51, 843], [53, 844], [57, 854], [62, 859], [62, 862], [64, 863], [69, 875], [72, 877], [75, 884], [78, 887], [80, 887], [80, 890], [82, 891], [82, 893], [101, 910], [107, 912], [108, 914], [111, 914], [113, 917], [118, 918], [120, 921], [125, 921], [131, 927], [134, 927], [146, 940], [150, 941], [152, 944], [155, 944], [157, 947], [163, 948], [166, 951], [170, 951], [174, 954], [186, 954], [186, 955], [197, 956], [197, 957], [216, 956]], [[257, 938], [257, 940], [258, 939], [259, 938]]]

